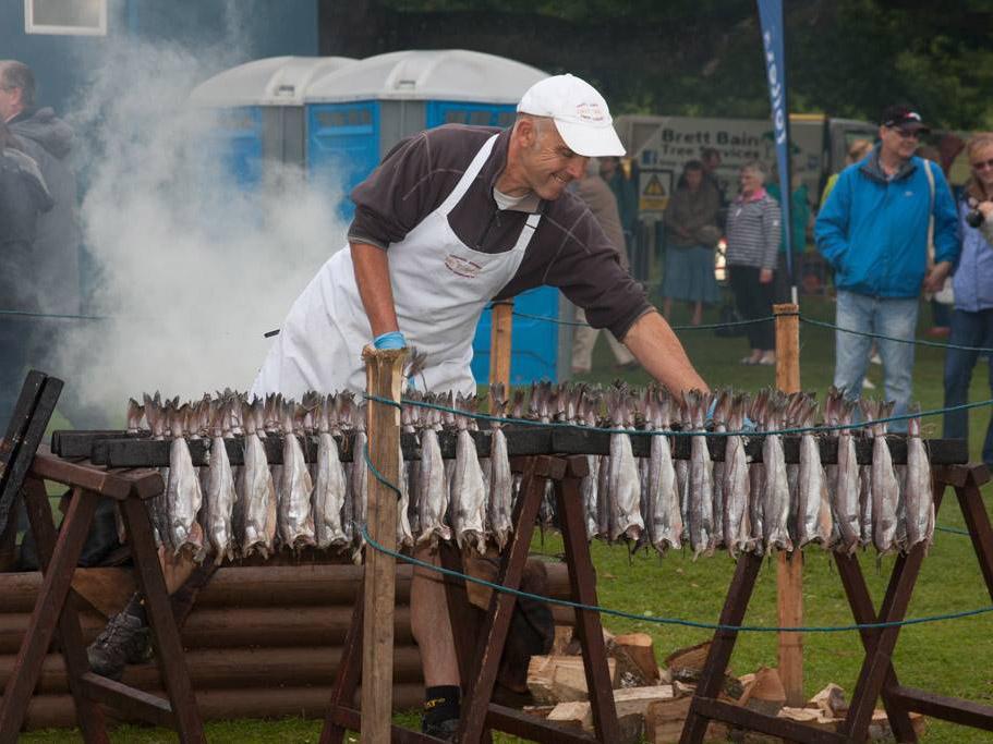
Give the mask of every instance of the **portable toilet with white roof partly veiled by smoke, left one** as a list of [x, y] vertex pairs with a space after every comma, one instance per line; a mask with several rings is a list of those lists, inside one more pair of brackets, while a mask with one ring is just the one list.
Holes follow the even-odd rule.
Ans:
[[306, 89], [323, 76], [354, 64], [348, 57], [269, 57], [225, 70], [190, 94], [194, 107], [211, 109], [208, 144], [225, 172], [244, 188], [257, 187], [263, 163], [304, 167]]

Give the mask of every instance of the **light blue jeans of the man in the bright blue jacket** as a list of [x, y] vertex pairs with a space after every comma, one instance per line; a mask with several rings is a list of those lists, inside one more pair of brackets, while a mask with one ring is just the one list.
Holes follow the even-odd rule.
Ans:
[[[835, 325], [838, 328], [912, 341], [917, 330], [917, 297], [887, 300], [839, 290]], [[859, 398], [862, 392], [872, 341], [868, 336], [840, 330], [835, 332], [834, 383], [836, 388], [844, 389], [849, 399]], [[876, 346], [883, 359], [886, 400], [896, 402], [893, 414], [899, 416], [907, 413], [910, 404], [913, 344], [876, 339]], [[891, 431], [906, 431], [907, 422], [894, 422], [888, 428]]]

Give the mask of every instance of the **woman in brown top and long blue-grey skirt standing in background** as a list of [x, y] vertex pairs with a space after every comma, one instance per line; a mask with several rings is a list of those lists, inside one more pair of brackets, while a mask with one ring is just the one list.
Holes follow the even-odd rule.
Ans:
[[690, 322], [703, 321], [703, 305], [720, 300], [714, 276], [714, 247], [720, 239], [717, 192], [703, 180], [703, 163], [690, 160], [665, 210], [666, 254], [662, 314], [673, 316], [673, 300], [690, 303]]

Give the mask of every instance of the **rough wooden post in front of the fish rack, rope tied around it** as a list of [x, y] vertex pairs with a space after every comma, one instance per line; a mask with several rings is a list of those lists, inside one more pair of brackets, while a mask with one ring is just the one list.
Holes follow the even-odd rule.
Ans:
[[[405, 349], [362, 351], [371, 395], [400, 400]], [[400, 410], [368, 402], [368, 454], [376, 469], [391, 484], [400, 483]], [[362, 458], [361, 452], [355, 458]], [[397, 549], [398, 496], [368, 475], [368, 534], [389, 550]], [[373, 548], [365, 550], [365, 597], [362, 647], [362, 736], [379, 744], [390, 739], [393, 698], [393, 612], [396, 559]]]

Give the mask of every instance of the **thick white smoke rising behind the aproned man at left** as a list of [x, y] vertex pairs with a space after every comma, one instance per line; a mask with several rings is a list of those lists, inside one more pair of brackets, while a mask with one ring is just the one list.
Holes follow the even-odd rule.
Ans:
[[71, 117], [84, 135], [93, 309], [110, 319], [74, 331], [59, 366], [112, 414], [146, 391], [247, 389], [270, 344], [263, 333], [343, 244], [340, 194], [286, 171], [265, 195], [245, 194], [226, 172], [216, 122], [186, 97], [230, 62], [121, 41]]

